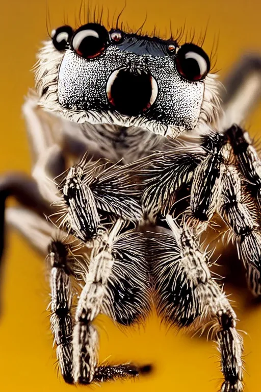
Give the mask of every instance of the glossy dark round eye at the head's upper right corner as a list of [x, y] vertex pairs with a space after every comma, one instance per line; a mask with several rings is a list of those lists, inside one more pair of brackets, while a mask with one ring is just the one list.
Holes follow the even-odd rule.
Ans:
[[179, 48], [175, 61], [179, 75], [191, 82], [204, 79], [210, 70], [210, 59], [201, 47], [192, 43]]

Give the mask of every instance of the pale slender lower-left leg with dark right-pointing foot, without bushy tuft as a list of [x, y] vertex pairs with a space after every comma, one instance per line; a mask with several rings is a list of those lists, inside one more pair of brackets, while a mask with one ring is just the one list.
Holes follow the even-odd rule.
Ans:
[[[86, 284], [81, 292], [75, 313], [73, 330], [73, 379], [74, 382], [89, 384], [96, 380], [102, 381], [109, 375], [111, 378], [123, 373], [121, 366], [97, 367], [98, 332], [93, 325], [94, 318], [100, 313], [101, 305], [106, 296], [106, 286], [111, 275], [114, 259], [111, 246], [120, 223], [118, 222], [110, 236], [104, 238], [98, 248], [94, 248], [86, 275]], [[123, 365], [124, 366], [124, 365]], [[135, 372], [129, 367], [129, 375]], [[126, 367], [126, 374], [128, 374]], [[138, 374], [138, 371], [136, 372]]]

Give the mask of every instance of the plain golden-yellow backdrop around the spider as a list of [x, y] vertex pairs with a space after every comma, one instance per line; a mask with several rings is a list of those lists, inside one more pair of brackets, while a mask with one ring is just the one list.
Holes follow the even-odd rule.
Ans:
[[[64, 12], [74, 25], [80, 1], [49, 0], [51, 28], [63, 24]], [[108, 7], [111, 15], [124, 6], [123, 1], [94, 2]], [[33, 86], [30, 69], [41, 40], [46, 36], [45, 0], [2, 0], [0, 51], [0, 169], [24, 170], [29, 173], [30, 160], [24, 122], [20, 107], [28, 87]], [[204, 48], [210, 54], [215, 36], [219, 35], [217, 68], [221, 76], [238, 56], [250, 49], [261, 54], [259, 0], [129, 0], [122, 19], [138, 28], [147, 13], [145, 28], [154, 24], [162, 34], [169, 28], [184, 26], [194, 29], [196, 36], [208, 30]], [[77, 16], [76, 16], [77, 18]], [[259, 107], [260, 109], [260, 107]], [[261, 114], [251, 116], [251, 135], [258, 135]], [[259, 131], [259, 135], [261, 135]], [[245, 289], [226, 286], [233, 291], [245, 336], [246, 391], [261, 389], [261, 308], [253, 305]], [[4, 309], [0, 321], [0, 390], [10, 391], [69, 391], [55, 369], [55, 352], [49, 332], [47, 312], [48, 284], [44, 262], [15, 234], [8, 238], [4, 277]], [[251, 303], [251, 306], [250, 306]], [[101, 386], [102, 391], [118, 392], [171, 390], [182, 392], [214, 392], [218, 390], [221, 373], [213, 342], [205, 338], [191, 339], [160, 325], [151, 316], [144, 328], [119, 331], [106, 318], [99, 321], [101, 334], [100, 359], [111, 355], [111, 362], [133, 360], [153, 363], [154, 372], [135, 382], [117, 381]], [[82, 387], [99, 390], [97, 386]], [[80, 388], [81, 389], [81, 388]]]

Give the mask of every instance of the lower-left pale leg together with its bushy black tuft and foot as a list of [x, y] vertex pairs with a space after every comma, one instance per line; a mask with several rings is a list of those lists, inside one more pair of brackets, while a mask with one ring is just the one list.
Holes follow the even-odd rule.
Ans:
[[[142, 317], [143, 313], [146, 314], [149, 308], [148, 274], [143, 265], [142, 241], [137, 238], [137, 233], [129, 234], [126, 241], [123, 241], [127, 249], [122, 247], [119, 231], [123, 225], [123, 222], [118, 220], [109, 234], [105, 234], [99, 246], [92, 251], [86, 284], [75, 313], [74, 382], [89, 384], [93, 381], [139, 374], [139, 368], [130, 364], [98, 365], [98, 333], [92, 324], [95, 317], [103, 311], [112, 315], [116, 321], [128, 325]], [[139, 255], [142, 260], [139, 260]], [[121, 261], [127, 264], [125, 272], [122, 271]]]

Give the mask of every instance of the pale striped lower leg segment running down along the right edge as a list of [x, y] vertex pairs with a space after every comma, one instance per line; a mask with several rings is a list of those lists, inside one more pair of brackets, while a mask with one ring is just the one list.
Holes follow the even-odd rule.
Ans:
[[[218, 212], [232, 229], [237, 243], [239, 257], [243, 260], [247, 281], [254, 295], [261, 295], [261, 232], [258, 215], [253, 204], [246, 204], [242, 194], [242, 184], [238, 170], [227, 166], [220, 194]], [[249, 196], [250, 198], [250, 196]], [[256, 212], [256, 211], [255, 211]], [[257, 215], [254, 218], [254, 215]]]

